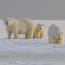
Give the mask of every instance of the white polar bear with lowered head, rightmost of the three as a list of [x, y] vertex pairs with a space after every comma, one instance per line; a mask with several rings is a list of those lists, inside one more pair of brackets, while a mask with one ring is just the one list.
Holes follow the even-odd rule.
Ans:
[[58, 25], [52, 24], [48, 29], [49, 43], [62, 43], [64, 40], [64, 32]]

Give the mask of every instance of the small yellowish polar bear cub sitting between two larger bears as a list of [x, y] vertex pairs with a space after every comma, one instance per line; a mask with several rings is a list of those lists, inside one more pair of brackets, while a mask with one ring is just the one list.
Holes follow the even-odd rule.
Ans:
[[41, 39], [43, 37], [44, 37], [44, 26], [43, 26], [43, 24], [37, 24], [37, 26], [34, 30], [33, 39], [35, 39], [35, 38]]

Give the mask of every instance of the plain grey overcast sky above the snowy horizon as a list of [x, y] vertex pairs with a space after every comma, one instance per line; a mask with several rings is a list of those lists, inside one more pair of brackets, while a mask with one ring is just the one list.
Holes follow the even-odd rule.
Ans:
[[0, 0], [0, 18], [65, 19], [65, 0]]

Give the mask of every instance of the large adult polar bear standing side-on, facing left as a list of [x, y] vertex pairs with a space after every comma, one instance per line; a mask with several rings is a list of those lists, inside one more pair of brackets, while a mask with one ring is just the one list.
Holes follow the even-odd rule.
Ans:
[[35, 24], [32, 19], [17, 20], [8, 18], [4, 19], [4, 22], [7, 26], [8, 39], [11, 38], [12, 33], [14, 33], [14, 39], [18, 37], [18, 34], [25, 34], [26, 39], [33, 38]]

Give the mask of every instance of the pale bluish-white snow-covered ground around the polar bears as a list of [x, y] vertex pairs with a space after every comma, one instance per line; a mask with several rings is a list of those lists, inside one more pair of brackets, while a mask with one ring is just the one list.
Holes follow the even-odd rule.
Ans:
[[[63, 20], [34, 20], [45, 25], [43, 39], [7, 39], [6, 26], [0, 20], [0, 65], [65, 65], [65, 42], [49, 44], [47, 30], [52, 23], [65, 28]], [[24, 36], [23, 36], [24, 37]]]

